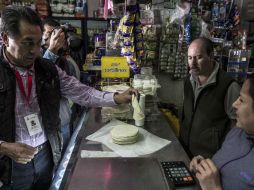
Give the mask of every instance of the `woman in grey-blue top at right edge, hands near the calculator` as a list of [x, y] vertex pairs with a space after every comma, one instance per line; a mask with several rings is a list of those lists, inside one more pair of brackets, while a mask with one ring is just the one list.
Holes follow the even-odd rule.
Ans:
[[254, 74], [245, 80], [233, 107], [236, 127], [221, 149], [212, 159], [196, 156], [190, 163], [203, 190], [254, 189]]

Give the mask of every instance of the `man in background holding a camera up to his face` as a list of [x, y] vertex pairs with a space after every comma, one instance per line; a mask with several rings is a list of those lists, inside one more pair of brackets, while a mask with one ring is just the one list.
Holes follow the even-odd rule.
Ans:
[[[68, 55], [67, 34], [64, 28], [60, 24], [47, 18], [43, 21], [43, 43], [42, 48], [44, 50], [43, 57], [53, 61], [68, 75], [75, 76], [80, 79], [80, 70], [75, 61]], [[73, 106], [73, 107], [72, 107]], [[63, 135], [63, 152], [65, 152], [68, 142], [71, 137], [71, 127], [73, 118], [77, 114], [76, 108], [78, 105], [72, 104], [67, 98], [61, 98], [60, 101], [60, 119], [61, 119], [61, 131]]]

